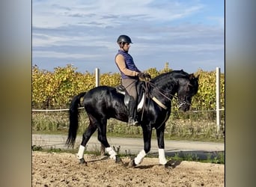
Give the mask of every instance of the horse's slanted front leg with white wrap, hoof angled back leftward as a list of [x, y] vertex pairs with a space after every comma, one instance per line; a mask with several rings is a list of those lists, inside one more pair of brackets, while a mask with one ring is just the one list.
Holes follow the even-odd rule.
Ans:
[[135, 159], [129, 162], [129, 167], [134, 167], [135, 165], [140, 164], [144, 159], [144, 157], [147, 155], [147, 153], [150, 152], [152, 129], [150, 126], [144, 126], [142, 127], [142, 129], [143, 129], [144, 149], [138, 153]]

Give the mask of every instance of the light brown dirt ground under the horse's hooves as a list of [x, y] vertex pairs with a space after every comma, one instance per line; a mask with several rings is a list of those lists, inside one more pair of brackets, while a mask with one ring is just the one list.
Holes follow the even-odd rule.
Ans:
[[156, 158], [144, 158], [128, 168], [101, 156], [85, 155], [80, 165], [71, 153], [32, 153], [32, 186], [225, 186], [225, 166], [201, 162], [170, 162], [159, 165]]

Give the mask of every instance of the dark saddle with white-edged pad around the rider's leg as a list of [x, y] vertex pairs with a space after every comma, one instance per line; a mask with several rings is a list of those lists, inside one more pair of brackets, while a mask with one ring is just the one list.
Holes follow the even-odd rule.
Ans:
[[[137, 111], [141, 111], [141, 109], [144, 106], [145, 103], [145, 95], [148, 95], [148, 91], [147, 91], [147, 87], [146, 87], [146, 82], [138, 82], [137, 84], [137, 94], [138, 94], [138, 100], [137, 100]], [[129, 104], [129, 93], [127, 93], [127, 90], [125, 89], [125, 87], [123, 85], [118, 85], [116, 88], [116, 91], [118, 93], [121, 93], [124, 95], [124, 105], [127, 106], [128, 108], [128, 104]]]

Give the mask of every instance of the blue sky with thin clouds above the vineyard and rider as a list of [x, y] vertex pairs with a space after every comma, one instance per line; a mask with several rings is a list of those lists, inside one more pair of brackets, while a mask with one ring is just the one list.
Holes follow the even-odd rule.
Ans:
[[115, 73], [116, 40], [141, 71], [224, 72], [224, 0], [32, 0], [32, 65]]

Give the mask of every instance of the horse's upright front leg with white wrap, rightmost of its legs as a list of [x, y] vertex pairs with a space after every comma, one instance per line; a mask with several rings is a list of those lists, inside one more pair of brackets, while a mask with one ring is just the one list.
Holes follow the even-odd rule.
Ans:
[[156, 129], [156, 137], [157, 137], [157, 144], [158, 144], [158, 153], [159, 153], [159, 164], [165, 165], [167, 160], [165, 159], [165, 123], [160, 126], [159, 129]]

